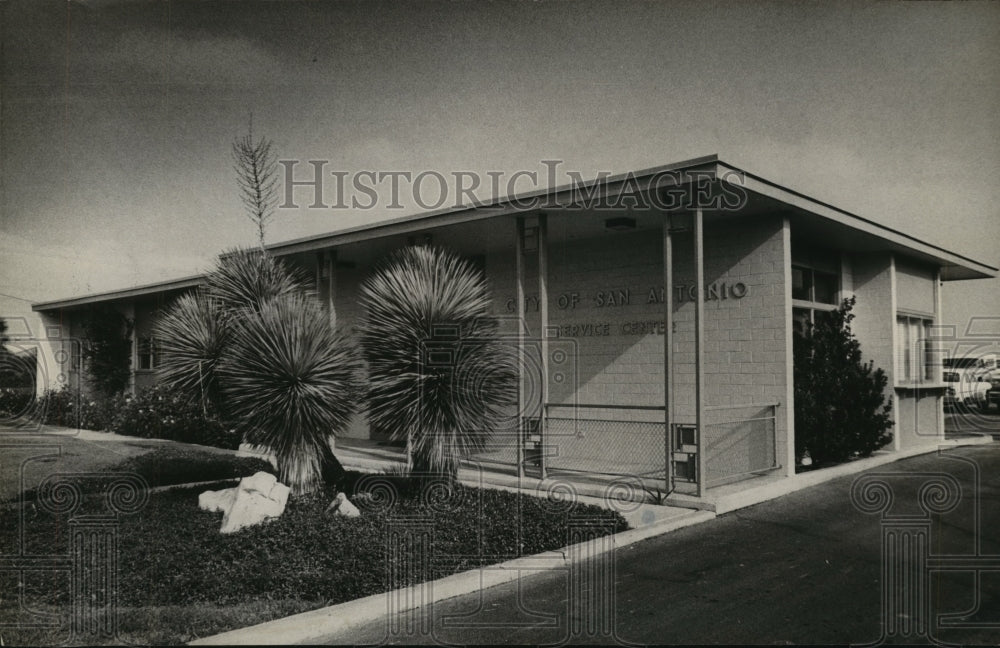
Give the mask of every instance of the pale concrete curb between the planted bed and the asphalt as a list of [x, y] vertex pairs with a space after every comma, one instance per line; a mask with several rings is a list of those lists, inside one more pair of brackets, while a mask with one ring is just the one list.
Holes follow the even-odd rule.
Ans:
[[[700, 524], [714, 517], [716, 517], [715, 513], [710, 511], [691, 511], [640, 529], [629, 529], [610, 536], [602, 536], [569, 545], [555, 551], [516, 558], [497, 565], [452, 574], [434, 581], [418, 583], [383, 594], [373, 594], [362, 599], [301, 612], [255, 626], [230, 630], [211, 637], [196, 639], [189, 645], [317, 643], [325, 636], [376, 621], [388, 614], [415, 610], [456, 596], [509, 583], [520, 578], [522, 571], [540, 572], [568, 569], [573, 563], [589, 560], [614, 549], [627, 547], [682, 527]], [[609, 539], [611, 541], [607, 542]]]

